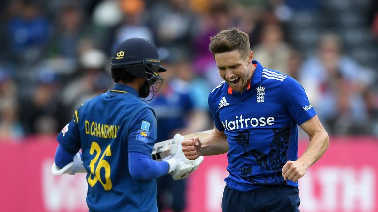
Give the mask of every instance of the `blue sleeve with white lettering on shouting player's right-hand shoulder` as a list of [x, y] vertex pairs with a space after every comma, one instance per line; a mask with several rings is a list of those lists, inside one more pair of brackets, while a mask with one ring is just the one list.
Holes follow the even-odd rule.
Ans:
[[305, 89], [295, 79], [288, 77], [284, 80], [281, 94], [284, 94], [281, 95], [284, 108], [298, 125], [316, 115]]

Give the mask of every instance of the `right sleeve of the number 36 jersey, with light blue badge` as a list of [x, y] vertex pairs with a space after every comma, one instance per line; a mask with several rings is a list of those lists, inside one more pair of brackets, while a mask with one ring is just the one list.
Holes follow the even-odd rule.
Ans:
[[157, 137], [157, 123], [151, 108], [139, 111], [128, 129], [128, 152], [151, 155]]

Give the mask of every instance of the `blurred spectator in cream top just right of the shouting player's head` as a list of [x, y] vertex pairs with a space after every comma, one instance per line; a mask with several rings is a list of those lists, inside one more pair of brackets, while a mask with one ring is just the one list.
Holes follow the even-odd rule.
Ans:
[[261, 42], [252, 47], [254, 59], [265, 67], [288, 74], [290, 46], [284, 40], [283, 29], [278, 22], [267, 23], [261, 32]]

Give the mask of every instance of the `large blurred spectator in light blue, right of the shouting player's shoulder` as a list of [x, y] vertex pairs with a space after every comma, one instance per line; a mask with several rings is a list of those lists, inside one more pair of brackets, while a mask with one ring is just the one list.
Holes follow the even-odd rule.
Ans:
[[362, 93], [374, 78], [369, 70], [343, 54], [341, 45], [336, 34], [323, 34], [317, 54], [306, 59], [299, 80], [329, 132], [364, 133], [361, 129], [368, 120], [368, 111]]

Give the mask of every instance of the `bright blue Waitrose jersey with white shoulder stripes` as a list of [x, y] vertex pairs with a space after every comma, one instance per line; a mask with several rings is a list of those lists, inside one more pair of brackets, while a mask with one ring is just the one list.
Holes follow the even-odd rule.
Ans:
[[241, 94], [224, 81], [209, 94], [215, 127], [224, 131], [229, 145], [231, 189], [251, 191], [264, 185], [288, 185], [282, 168], [298, 159], [298, 128], [316, 115], [305, 90], [293, 78], [266, 69], [257, 61], [250, 84]]

